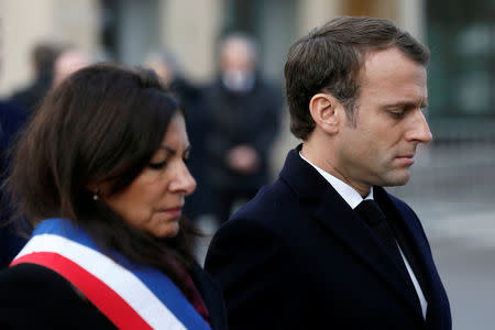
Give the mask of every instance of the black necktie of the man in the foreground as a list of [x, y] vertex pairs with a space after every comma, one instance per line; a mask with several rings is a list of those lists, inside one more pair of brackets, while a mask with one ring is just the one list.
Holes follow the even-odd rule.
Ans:
[[404, 260], [397, 246], [392, 228], [389, 227], [385, 215], [380, 206], [373, 199], [364, 199], [354, 209], [361, 219], [370, 227], [376, 238], [385, 245], [388, 252], [394, 257], [395, 263], [405, 273], [410, 280]]

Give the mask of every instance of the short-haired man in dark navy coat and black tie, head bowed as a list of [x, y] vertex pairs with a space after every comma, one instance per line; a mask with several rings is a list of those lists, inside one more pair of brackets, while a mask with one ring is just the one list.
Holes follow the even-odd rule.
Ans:
[[405, 185], [432, 136], [429, 51], [386, 20], [338, 18], [285, 65], [304, 141], [278, 180], [215, 235], [206, 268], [239, 329], [451, 329], [447, 294]]

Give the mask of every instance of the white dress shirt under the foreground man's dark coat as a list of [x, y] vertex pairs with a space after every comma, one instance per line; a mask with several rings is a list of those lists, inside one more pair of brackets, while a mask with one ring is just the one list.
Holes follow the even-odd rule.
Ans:
[[[367, 194], [367, 196], [365, 198], [363, 198], [360, 195], [360, 193], [358, 193], [358, 190], [355, 190], [354, 188], [352, 188], [351, 186], [349, 186], [341, 179], [338, 179], [330, 173], [324, 172], [320, 167], [316, 166], [315, 164], [312, 164], [311, 162], [306, 160], [300, 152], [299, 152], [299, 156], [302, 160], [305, 160], [309, 165], [315, 167], [315, 169], [318, 170], [318, 173], [321, 174], [322, 177], [324, 177], [324, 179], [333, 187], [333, 189], [337, 190], [337, 193], [339, 193], [339, 195], [343, 198], [343, 200], [346, 201], [346, 204], [349, 204], [349, 206], [352, 209], [355, 209], [360, 205], [360, 202], [363, 201], [364, 199], [373, 199], [373, 186], [370, 189], [370, 194]], [[397, 243], [397, 241], [396, 241], [396, 243]], [[421, 304], [422, 317], [426, 319], [428, 301], [426, 300], [425, 295], [422, 294], [422, 289], [419, 286], [418, 279], [416, 278], [415, 273], [413, 272], [413, 268], [410, 267], [410, 265], [409, 265], [406, 256], [404, 255], [403, 250], [400, 249], [400, 245], [398, 243], [397, 243], [397, 248], [399, 249], [400, 255], [403, 256], [404, 263], [406, 264], [407, 272], [409, 273], [409, 277], [413, 280], [413, 284], [415, 286], [416, 294], [418, 295], [419, 302]]]

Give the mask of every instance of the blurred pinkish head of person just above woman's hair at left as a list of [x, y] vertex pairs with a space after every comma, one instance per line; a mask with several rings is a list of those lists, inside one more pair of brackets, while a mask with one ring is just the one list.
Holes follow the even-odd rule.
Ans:
[[91, 64], [86, 52], [74, 47], [66, 47], [55, 59], [52, 86], [58, 86], [70, 74]]

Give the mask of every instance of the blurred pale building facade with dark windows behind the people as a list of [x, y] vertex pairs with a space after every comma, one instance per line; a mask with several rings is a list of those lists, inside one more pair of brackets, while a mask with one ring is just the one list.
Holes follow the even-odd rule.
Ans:
[[[283, 84], [285, 57], [298, 36], [336, 15], [372, 15], [393, 20], [431, 48], [429, 117], [437, 141], [494, 141], [494, 3], [492, 0], [2, 0], [0, 96], [9, 96], [30, 79], [30, 50], [43, 40], [68, 43], [94, 54], [96, 59], [124, 64], [141, 64], [150, 51], [166, 48], [179, 58], [188, 78], [204, 82], [217, 69], [218, 41], [230, 31], [244, 31], [257, 37], [263, 74]], [[288, 132], [280, 139], [280, 150], [294, 145]]]

